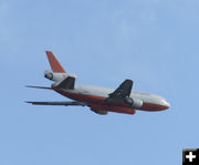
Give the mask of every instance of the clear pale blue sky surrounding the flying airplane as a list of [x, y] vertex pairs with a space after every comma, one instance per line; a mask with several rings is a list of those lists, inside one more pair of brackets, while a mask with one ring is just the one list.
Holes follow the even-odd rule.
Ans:
[[[0, 0], [0, 164], [168, 165], [198, 147], [198, 0]], [[159, 94], [165, 112], [109, 113], [31, 106], [52, 91], [44, 51], [76, 83]]]

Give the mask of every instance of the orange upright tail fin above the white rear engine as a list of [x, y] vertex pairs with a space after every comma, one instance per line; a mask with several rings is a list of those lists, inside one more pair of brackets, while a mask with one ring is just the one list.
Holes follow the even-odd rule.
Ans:
[[60, 64], [60, 62], [51, 51], [45, 51], [45, 53], [48, 55], [51, 69], [54, 73], [66, 73], [63, 66]]

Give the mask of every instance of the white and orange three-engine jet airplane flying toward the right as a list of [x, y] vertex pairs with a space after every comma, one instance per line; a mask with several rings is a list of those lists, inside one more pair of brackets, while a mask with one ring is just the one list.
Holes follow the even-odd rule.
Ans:
[[129, 79], [126, 79], [116, 90], [76, 84], [76, 75], [67, 73], [53, 52], [45, 51], [45, 53], [51, 65], [51, 71], [44, 71], [44, 78], [54, 81], [54, 83], [50, 87], [32, 85], [27, 85], [27, 87], [54, 90], [73, 101], [27, 101], [27, 103], [33, 105], [88, 106], [93, 112], [101, 115], [106, 115], [108, 112], [124, 114], [135, 114], [136, 111], [157, 112], [170, 107], [170, 104], [161, 96], [132, 92], [133, 81]]

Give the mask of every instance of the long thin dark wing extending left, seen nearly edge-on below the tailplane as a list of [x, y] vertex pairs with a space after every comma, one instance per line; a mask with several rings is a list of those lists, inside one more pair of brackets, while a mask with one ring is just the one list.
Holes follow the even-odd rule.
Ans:
[[85, 103], [82, 102], [32, 102], [32, 101], [27, 101], [27, 103], [33, 104], [33, 105], [76, 105], [76, 106], [85, 106]]

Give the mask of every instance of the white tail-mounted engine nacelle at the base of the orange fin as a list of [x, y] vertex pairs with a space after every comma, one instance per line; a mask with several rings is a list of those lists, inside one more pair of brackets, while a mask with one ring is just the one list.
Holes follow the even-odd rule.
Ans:
[[49, 71], [49, 70], [44, 72], [44, 78], [52, 80], [54, 82], [61, 82], [67, 76], [73, 76], [76, 79], [76, 75], [69, 74], [69, 73], [53, 73], [52, 71]]

